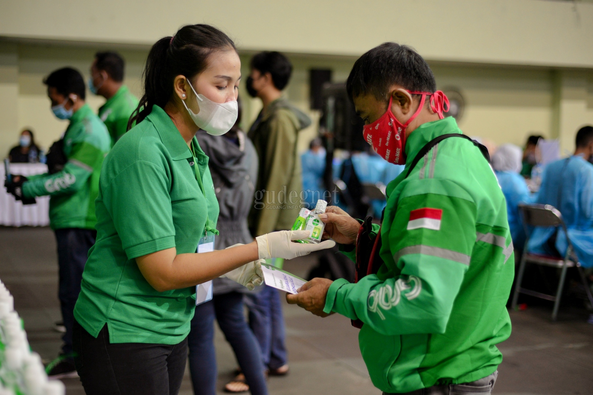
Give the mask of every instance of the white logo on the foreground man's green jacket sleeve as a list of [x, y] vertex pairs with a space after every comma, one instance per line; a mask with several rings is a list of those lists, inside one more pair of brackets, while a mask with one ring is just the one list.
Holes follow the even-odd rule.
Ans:
[[[413, 287], [411, 284], [414, 284]], [[404, 296], [407, 300], [412, 300], [417, 298], [420, 295], [420, 291], [422, 291], [422, 281], [420, 278], [416, 276], [410, 276], [407, 280], [403, 278], [399, 278], [394, 284], [393, 288], [391, 285], [385, 284], [382, 287], [379, 287], [377, 290], [372, 290], [369, 292], [369, 296], [367, 298], [368, 309], [372, 313], [377, 313], [382, 320], [385, 319], [385, 316], [379, 310], [379, 307], [383, 310], [390, 310], [391, 307], [397, 306], [401, 300], [401, 294], [407, 291]]]

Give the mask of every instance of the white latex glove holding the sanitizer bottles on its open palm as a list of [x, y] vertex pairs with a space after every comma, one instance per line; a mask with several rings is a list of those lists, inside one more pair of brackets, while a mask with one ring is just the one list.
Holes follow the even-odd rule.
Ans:
[[308, 230], [280, 230], [279, 232], [266, 233], [257, 236], [257, 253], [260, 259], [284, 258], [292, 259], [297, 256], [307, 255], [313, 251], [332, 248], [336, 245], [333, 240], [314, 243], [293, 243], [292, 240], [306, 239], [311, 235]]

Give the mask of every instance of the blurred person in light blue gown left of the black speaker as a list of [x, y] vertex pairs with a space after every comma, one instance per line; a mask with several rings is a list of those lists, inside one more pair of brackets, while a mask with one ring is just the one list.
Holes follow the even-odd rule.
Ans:
[[311, 140], [309, 149], [301, 154], [302, 190], [307, 192], [309, 207], [324, 199], [323, 173], [326, 171], [326, 149], [319, 137]]

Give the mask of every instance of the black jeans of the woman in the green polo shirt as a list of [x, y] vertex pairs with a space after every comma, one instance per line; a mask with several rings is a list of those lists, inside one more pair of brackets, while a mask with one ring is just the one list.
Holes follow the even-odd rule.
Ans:
[[177, 395], [187, 361], [187, 338], [175, 345], [110, 343], [74, 322], [74, 363], [87, 395]]

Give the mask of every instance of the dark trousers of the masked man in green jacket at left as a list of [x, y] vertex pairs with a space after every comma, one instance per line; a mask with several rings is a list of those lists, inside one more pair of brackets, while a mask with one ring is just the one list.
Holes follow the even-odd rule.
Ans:
[[80, 293], [82, 271], [87, 263], [88, 250], [94, 245], [97, 231], [93, 229], [56, 229], [58, 242], [60, 309], [66, 333], [62, 336], [62, 352], [72, 352], [72, 325], [74, 324], [74, 305]]

